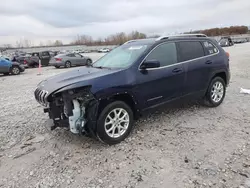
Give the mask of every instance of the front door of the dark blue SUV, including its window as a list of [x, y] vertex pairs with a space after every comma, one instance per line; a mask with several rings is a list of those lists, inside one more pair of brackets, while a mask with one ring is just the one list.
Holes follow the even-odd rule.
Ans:
[[136, 92], [142, 108], [150, 108], [182, 95], [185, 71], [177, 59], [173, 42], [160, 44], [147, 56], [145, 61], [157, 60], [160, 67], [138, 70]]

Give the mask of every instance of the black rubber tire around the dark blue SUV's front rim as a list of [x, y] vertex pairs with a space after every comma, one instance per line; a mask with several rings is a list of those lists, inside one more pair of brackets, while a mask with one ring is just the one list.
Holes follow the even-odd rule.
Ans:
[[[106, 118], [110, 113], [112, 113], [112, 111], [114, 109], [125, 110], [127, 112], [127, 115], [128, 115], [127, 117], [129, 117], [127, 129], [125, 130], [125, 132], [121, 136], [116, 137], [116, 138], [109, 136], [105, 130]], [[123, 114], [125, 115], [125, 113], [123, 113]], [[120, 114], [120, 116], [121, 116], [121, 114]], [[116, 126], [118, 126], [118, 125], [116, 125]], [[123, 126], [125, 126], [125, 123], [123, 124]], [[115, 101], [115, 102], [108, 104], [100, 113], [100, 116], [97, 120], [96, 135], [100, 141], [102, 141], [106, 144], [109, 144], [109, 145], [114, 145], [114, 144], [118, 144], [121, 141], [123, 141], [130, 134], [133, 126], [134, 126], [134, 116], [133, 116], [133, 111], [131, 110], [131, 108], [126, 103], [124, 103], [122, 101]], [[116, 127], [115, 130], [117, 130], [117, 129], [118, 128]]]

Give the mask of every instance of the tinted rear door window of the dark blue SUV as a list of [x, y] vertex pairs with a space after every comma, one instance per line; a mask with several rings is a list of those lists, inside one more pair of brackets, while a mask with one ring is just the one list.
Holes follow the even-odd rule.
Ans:
[[180, 61], [188, 61], [205, 56], [203, 46], [198, 41], [178, 42]]

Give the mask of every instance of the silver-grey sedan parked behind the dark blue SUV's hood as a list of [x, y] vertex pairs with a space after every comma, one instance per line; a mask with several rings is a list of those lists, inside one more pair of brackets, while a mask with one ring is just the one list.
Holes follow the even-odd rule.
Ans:
[[54, 66], [56, 68], [65, 67], [70, 68], [72, 66], [84, 66], [92, 64], [92, 59], [83, 56], [81, 54], [59, 54], [53, 58], [51, 58], [49, 65]]

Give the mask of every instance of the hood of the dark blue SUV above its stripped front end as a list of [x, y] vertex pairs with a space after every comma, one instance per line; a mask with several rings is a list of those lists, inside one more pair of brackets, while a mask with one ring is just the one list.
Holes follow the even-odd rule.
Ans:
[[38, 88], [47, 91], [49, 94], [78, 82], [85, 82], [82, 85], [91, 85], [96, 78], [119, 72], [120, 69], [98, 69], [94, 67], [81, 67], [72, 71], [58, 74], [38, 84]]

